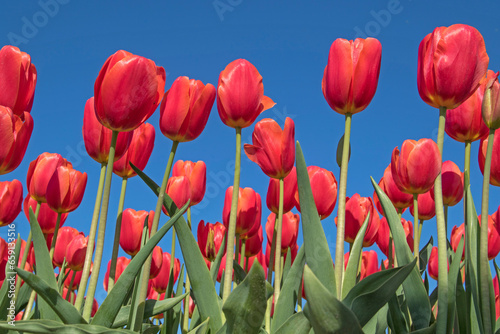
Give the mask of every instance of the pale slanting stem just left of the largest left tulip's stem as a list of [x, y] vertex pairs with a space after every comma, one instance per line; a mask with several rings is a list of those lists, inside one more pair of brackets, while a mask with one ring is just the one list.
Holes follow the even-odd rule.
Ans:
[[87, 252], [85, 253], [85, 262], [82, 269], [82, 278], [78, 285], [78, 294], [76, 295], [75, 308], [80, 311], [83, 305], [85, 290], [87, 289], [87, 282], [90, 275], [90, 267], [92, 265], [92, 255], [94, 253], [95, 236], [97, 232], [97, 221], [99, 220], [99, 213], [101, 208], [102, 191], [104, 187], [104, 177], [106, 176], [106, 163], [101, 164], [101, 173], [99, 176], [99, 184], [97, 186], [97, 195], [95, 197], [94, 213], [92, 214], [92, 222], [90, 223], [89, 241], [87, 245]]

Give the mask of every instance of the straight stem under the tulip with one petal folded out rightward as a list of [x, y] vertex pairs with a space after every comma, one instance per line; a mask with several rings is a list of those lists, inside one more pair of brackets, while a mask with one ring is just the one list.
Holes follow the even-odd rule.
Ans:
[[227, 232], [226, 270], [224, 271], [224, 290], [222, 291], [222, 305], [231, 293], [233, 279], [234, 235], [236, 233], [236, 215], [238, 211], [238, 195], [240, 192], [240, 166], [241, 166], [241, 128], [236, 128], [236, 156], [234, 159], [233, 198], [231, 213], [229, 214], [229, 228]]

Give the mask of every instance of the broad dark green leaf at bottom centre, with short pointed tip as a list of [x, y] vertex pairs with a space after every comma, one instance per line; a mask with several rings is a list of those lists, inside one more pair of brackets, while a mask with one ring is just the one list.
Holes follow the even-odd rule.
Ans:
[[259, 261], [254, 261], [247, 277], [231, 292], [222, 306], [227, 332], [258, 333], [266, 307], [266, 275]]

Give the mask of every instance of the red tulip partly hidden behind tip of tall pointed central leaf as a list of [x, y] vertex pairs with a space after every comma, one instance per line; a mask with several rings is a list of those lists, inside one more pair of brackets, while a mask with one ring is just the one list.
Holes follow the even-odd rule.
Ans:
[[[337, 203], [337, 180], [332, 172], [317, 166], [307, 167], [311, 190], [320, 219], [330, 216]], [[295, 192], [295, 204], [300, 211], [299, 191]]]

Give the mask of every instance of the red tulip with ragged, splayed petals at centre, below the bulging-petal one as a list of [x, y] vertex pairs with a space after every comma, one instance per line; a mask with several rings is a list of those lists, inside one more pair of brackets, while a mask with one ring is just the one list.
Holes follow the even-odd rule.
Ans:
[[287, 176], [295, 162], [295, 124], [289, 117], [281, 130], [276, 121], [264, 118], [255, 125], [252, 143], [245, 144], [247, 157], [273, 179]]

